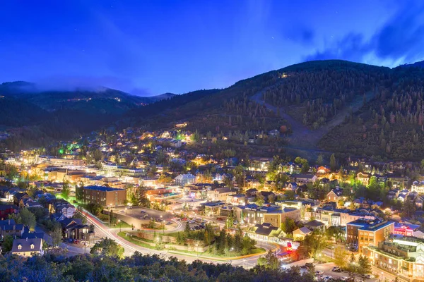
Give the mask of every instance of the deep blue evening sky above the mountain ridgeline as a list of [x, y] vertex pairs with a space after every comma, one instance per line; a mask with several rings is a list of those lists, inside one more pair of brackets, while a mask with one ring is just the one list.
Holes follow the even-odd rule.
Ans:
[[424, 59], [420, 0], [1, 2], [0, 82], [182, 93], [310, 59]]

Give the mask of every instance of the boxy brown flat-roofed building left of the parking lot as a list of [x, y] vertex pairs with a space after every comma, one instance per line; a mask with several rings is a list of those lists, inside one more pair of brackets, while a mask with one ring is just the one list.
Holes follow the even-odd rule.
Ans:
[[83, 202], [100, 204], [102, 207], [119, 206], [126, 201], [126, 190], [106, 186], [83, 188]]

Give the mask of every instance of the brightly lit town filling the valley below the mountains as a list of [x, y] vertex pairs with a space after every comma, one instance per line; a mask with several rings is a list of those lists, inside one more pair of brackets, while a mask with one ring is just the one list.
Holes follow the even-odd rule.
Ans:
[[322, 281], [424, 276], [424, 163], [237, 157], [230, 136], [187, 126], [5, 152], [1, 251], [96, 254], [114, 240], [122, 257], [300, 266]]

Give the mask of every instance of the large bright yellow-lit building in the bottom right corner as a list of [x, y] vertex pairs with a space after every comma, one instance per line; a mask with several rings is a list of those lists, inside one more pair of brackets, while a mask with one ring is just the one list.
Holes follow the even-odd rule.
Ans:
[[372, 264], [402, 281], [424, 281], [424, 240], [390, 238], [376, 246], [366, 246], [364, 255]]

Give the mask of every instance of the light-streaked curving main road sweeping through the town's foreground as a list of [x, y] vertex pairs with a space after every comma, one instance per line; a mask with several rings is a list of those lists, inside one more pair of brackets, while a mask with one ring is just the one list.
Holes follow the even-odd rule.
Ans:
[[[101, 221], [95, 218], [95, 216], [89, 214], [88, 212], [83, 212], [83, 215], [87, 217], [88, 222], [94, 224], [96, 235], [103, 237], [103, 238], [110, 238], [119, 245], [122, 245], [124, 247], [124, 255], [130, 256], [134, 254], [134, 252], [141, 252], [143, 254], [149, 254], [149, 255], [161, 255], [164, 257], [177, 257], [177, 259], [184, 259], [186, 262], [194, 262], [196, 259], [201, 259], [204, 262], [213, 262], [216, 263], [217, 259], [214, 258], [206, 258], [206, 257], [195, 257], [190, 255], [179, 255], [174, 253], [168, 253], [167, 250], [151, 250], [146, 247], [141, 247], [139, 245], [135, 245], [131, 242], [128, 242], [124, 240], [123, 238], [119, 237], [117, 235], [117, 229], [112, 230], [111, 228], [108, 228], [105, 226]], [[258, 244], [259, 245], [259, 244]], [[276, 250], [276, 245], [272, 245], [269, 243], [262, 242], [261, 246], [265, 250]], [[252, 257], [247, 257], [245, 259], [235, 259], [235, 260], [228, 260], [226, 263], [230, 263], [235, 266], [244, 266], [244, 267], [252, 267], [257, 264], [257, 259], [259, 259], [261, 255], [254, 255]]]

